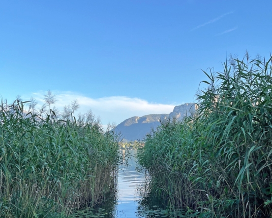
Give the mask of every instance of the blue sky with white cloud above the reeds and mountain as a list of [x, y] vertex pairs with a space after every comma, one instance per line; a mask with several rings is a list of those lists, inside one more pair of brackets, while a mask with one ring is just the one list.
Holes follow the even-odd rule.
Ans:
[[[102, 123], [194, 102], [201, 69], [271, 52], [271, 1], [2, 1], [0, 95], [78, 99]], [[39, 102], [42, 103], [42, 102]]]

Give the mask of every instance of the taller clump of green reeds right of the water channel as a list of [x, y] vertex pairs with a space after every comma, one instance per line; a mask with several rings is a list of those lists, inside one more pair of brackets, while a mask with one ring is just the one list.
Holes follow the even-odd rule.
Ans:
[[204, 71], [198, 115], [146, 137], [138, 161], [169, 205], [195, 217], [272, 215], [271, 59], [246, 53]]

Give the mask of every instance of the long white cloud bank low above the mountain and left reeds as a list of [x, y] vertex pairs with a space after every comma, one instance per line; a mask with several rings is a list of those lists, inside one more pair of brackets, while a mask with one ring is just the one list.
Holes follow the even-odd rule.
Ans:
[[[89, 98], [81, 94], [72, 92], [54, 92], [57, 102], [54, 104], [60, 111], [65, 105], [77, 99], [80, 104], [78, 113], [86, 113], [89, 109], [100, 116], [102, 124], [119, 124], [133, 116], [143, 116], [148, 114], [169, 114], [175, 105], [159, 104], [148, 102], [140, 98], [130, 98], [126, 96], [111, 96], [103, 98]], [[46, 92], [32, 93], [32, 96], [39, 101], [39, 105], [44, 103], [43, 98]], [[28, 97], [29, 98], [29, 97]], [[181, 104], [181, 103], [180, 103]], [[39, 107], [37, 105], [37, 107]]]

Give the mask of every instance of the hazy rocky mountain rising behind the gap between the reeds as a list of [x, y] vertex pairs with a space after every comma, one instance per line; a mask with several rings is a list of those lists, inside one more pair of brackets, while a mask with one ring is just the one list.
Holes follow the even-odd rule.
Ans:
[[182, 121], [185, 116], [191, 116], [196, 111], [196, 104], [186, 103], [174, 107], [173, 112], [168, 114], [150, 114], [142, 117], [131, 117], [114, 128], [115, 133], [120, 133], [123, 141], [142, 140], [152, 129], [156, 129], [165, 119], [176, 118]]

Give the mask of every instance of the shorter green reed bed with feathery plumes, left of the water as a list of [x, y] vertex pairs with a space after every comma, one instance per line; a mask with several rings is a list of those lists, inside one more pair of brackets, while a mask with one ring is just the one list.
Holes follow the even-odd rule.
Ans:
[[[55, 102], [51, 92], [45, 100]], [[0, 105], [0, 217], [68, 217], [115, 191], [115, 135], [91, 113], [76, 120], [77, 101], [66, 106], [65, 120], [36, 104], [18, 96]]]

